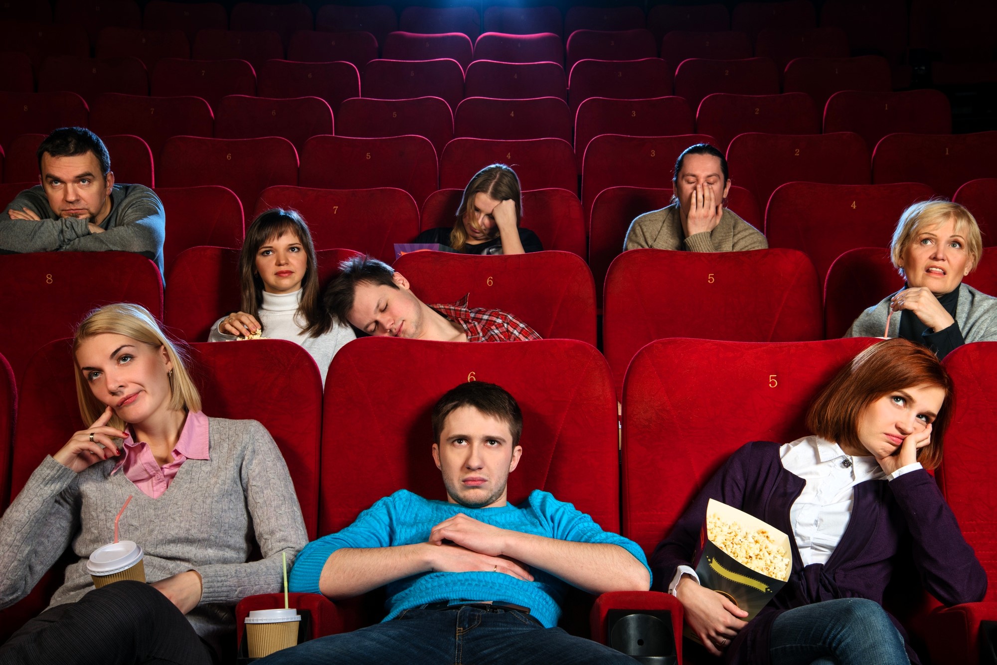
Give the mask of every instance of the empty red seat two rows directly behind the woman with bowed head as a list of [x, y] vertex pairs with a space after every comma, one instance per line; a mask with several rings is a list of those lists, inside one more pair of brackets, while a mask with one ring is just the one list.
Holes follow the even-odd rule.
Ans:
[[571, 141], [571, 111], [564, 100], [468, 98], [454, 114], [454, 135], [472, 138], [561, 138]]

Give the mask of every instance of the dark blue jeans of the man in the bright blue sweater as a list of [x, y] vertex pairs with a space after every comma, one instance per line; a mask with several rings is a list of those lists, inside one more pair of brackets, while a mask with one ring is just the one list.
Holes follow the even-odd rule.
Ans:
[[528, 614], [462, 605], [450, 609], [407, 609], [391, 621], [320, 637], [258, 662], [260, 665], [633, 665], [635, 661], [615, 649], [574, 637], [560, 628], [544, 628]]

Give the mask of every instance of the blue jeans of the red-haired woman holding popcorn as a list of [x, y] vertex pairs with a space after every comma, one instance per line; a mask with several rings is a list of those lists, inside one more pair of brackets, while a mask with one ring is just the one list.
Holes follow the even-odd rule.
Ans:
[[772, 665], [910, 665], [903, 637], [879, 603], [838, 598], [776, 617]]

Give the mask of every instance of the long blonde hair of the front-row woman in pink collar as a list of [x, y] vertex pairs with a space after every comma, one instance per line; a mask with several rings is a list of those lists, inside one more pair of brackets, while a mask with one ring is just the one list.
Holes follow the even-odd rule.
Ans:
[[[73, 338], [76, 399], [80, 405], [80, 417], [83, 418], [84, 426], [97, 420], [107, 406], [94, 396], [90, 386], [83, 380], [83, 371], [76, 358], [76, 352], [84, 341], [104, 333], [124, 334], [126, 337], [141, 341], [153, 348], [161, 346], [166, 348], [166, 355], [169, 356], [169, 361], [173, 365], [172, 375], [169, 377], [171, 394], [169, 408], [186, 409], [187, 411], [200, 410], [200, 393], [186, 370], [184, 353], [177, 349], [176, 344], [166, 336], [149, 310], [131, 303], [116, 303], [106, 305], [88, 314], [87, 318], [77, 327], [76, 336]], [[123, 429], [126, 423], [115, 414], [108, 424], [111, 427]]]

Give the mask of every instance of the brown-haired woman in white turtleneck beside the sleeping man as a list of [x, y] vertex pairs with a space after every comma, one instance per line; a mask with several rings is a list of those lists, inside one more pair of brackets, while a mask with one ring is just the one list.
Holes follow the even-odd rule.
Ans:
[[332, 356], [355, 338], [325, 313], [308, 225], [297, 212], [273, 208], [253, 220], [239, 254], [242, 310], [225, 315], [208, 341], [261, 336], [287, 339], [311, 353], [322, 373]]

